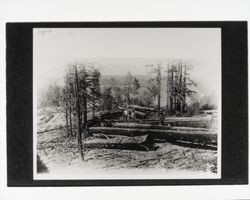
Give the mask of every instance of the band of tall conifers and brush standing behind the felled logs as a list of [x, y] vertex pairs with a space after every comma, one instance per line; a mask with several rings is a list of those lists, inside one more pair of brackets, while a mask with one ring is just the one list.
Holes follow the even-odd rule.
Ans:
[[[169, 115], [195, 115], [200, 109], [214, 109], [209, 102], [192, 102], [190, 97], [196, 93], [196, 83], [190, 79], [192, 65], [183, 61], [168, 64], [165, 69], [161, 64], [148, 65], [151, 73], [148, 76], [134, 76], [128, 72], [124, 76], [101, 77], [94, 66], [78, 64], [79, 94], [86, 96], [87, 112], [116, 110], [118, 106], [135, 104], [155, 107], [158, 111], [165, 109]], [[41, 95], [40, 106], [75, 105], [75, 81], [73, 67], [65, 74], [64, 87], [56, 83], [50, 85]], [[163, 84], [164, 85], [163, 87]], [[166, 93], [166, 104], [161, 105], [161, 94]], [[189, 101], [188, 101], [189, 100]], [[189, 103], [188, 103], [189, 102]]]

